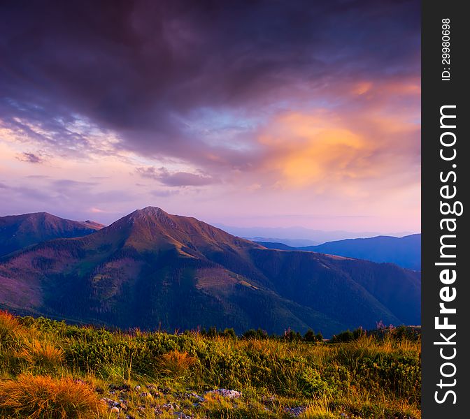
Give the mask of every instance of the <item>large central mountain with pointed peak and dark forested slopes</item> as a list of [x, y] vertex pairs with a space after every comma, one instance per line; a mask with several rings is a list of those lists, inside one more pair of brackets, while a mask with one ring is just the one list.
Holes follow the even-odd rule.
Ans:
[[419, 323], [420, 275], [278, 251], [146, 207], [90, 235], [41, 242], [0, 263], [3, 308], [121, 328], [339, 330]]

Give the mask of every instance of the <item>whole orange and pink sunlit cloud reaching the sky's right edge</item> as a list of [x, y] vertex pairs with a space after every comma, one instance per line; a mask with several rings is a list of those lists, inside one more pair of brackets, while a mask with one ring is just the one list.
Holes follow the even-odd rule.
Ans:
[[[415, 80], [343, 88], [366, 94], [367, 101], [352, 98], [334, 110], [291, 110], [259, 131], [257, 140], [267, 156], [262, 168], [276, 177], [271, 184], [359, 196], [375, 190], [377, 182], [404, 186], [409, 182], [404, 177], [413, 176], [419, 182], [419, 110], [410, 112], [413, 103], [404, 99], [419, 95]], [[401, 106], [391, 110], [394, 101]]]

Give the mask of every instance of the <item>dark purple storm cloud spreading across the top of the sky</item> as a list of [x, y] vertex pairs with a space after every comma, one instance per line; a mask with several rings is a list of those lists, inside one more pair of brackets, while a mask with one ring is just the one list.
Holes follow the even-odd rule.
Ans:
[[[0, 8], [3, 124], [77, 154], [94, 152], [87, 132], [69, 127], [85, 118], [82, 126], [118, 133], [118, 148], [243, 168], [254, 150], [227, 148], [223, 138], [208, 145], [187, 122], [204, 109], [257, 114], [299, 84], [314, 92], [335, 80], [419, 68], [418, 1], [3, 1]], [[191, 184], [171, 176], [162, 182]]]

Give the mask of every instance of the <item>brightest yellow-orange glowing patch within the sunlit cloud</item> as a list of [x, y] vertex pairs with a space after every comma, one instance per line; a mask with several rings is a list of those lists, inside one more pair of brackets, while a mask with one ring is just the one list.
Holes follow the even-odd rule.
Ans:
[[328, 112], [290, 112], [278, 117], [259, 141], [271, 149], [269, 167], [280, 172], [278, 186], [299, 187], [325, 179], [371, 175], [367, 158], [375, 147]]

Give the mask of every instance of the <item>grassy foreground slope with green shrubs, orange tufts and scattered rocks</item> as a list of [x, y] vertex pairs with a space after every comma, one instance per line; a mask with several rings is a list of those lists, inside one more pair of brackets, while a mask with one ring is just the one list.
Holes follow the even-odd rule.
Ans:
[[343, 337], [122, 333], [0, 311], [0, 418], [420, 418], [419, 337]]

